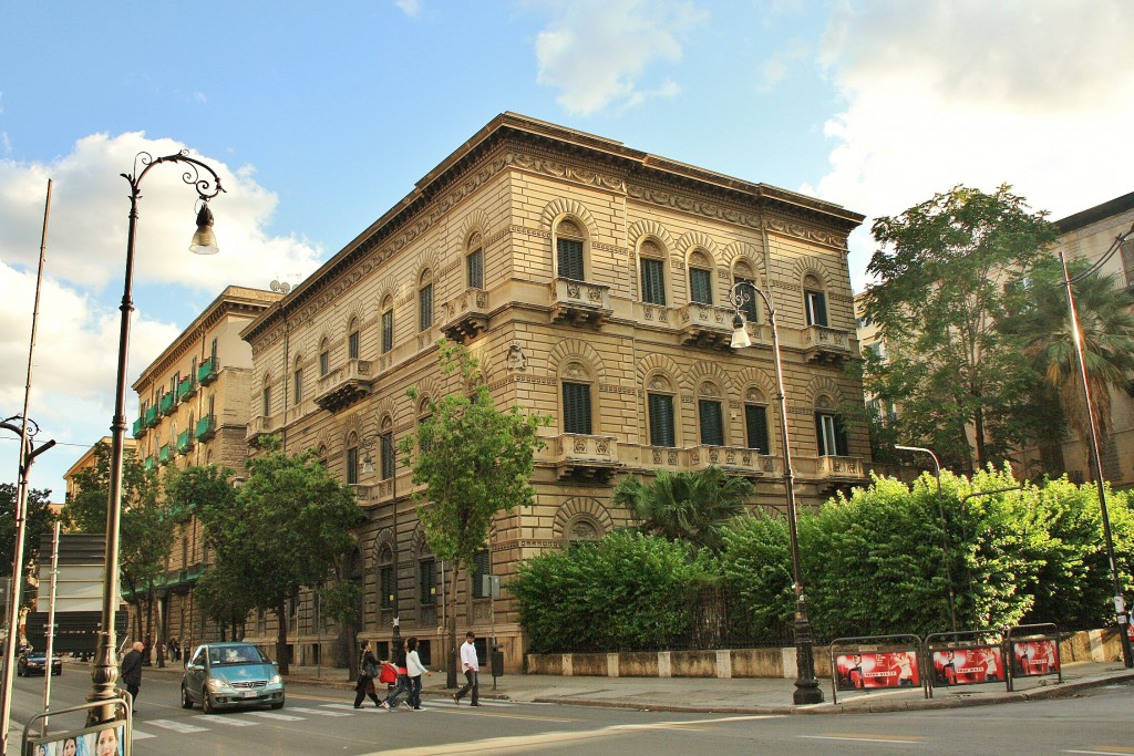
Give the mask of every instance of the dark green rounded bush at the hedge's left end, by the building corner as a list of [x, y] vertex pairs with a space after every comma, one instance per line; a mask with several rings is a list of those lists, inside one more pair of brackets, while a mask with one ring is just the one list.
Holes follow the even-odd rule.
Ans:
[[680, 543], [612, 533], [522, 562], [509, 589], [533, 652], [631, 651], [687, 634], [708, 577]]

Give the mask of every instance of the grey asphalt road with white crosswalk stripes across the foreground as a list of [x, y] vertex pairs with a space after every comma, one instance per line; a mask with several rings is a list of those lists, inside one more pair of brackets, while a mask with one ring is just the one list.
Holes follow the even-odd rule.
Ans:
[[[17, 678], [12, 720], [42, 708], [42, 678]], [[82, 703], [86, 670], [53, 678], [52, 706]], [[178, 678], [147, 678], [134, 725], [137, 756], [382, 753], [398, 756], [540, 754], [1134, 754], [1134, 686], [1077, 698], [862, 715], [675, 714], [552, 704], [483, 702], [479, 708], [426, 698], [426, 711], [352, 706], [348, 691], [288, 688], [287, 706], [208, 716], [183, 710]], [[369, 703], [369, 702], [367, 702]], [[465, 702], [462, 702], [463, 704]], [[79, 727], [52, 720], [52, 729]], [[10, 742], [18, 742], [14, 739]], [[17, 747], [9, 753], [16, 754]]]

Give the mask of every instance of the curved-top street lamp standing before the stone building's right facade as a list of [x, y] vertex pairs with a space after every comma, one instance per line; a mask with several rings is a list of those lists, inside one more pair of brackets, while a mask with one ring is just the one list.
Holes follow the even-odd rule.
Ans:
[[784, 447], [784, 493], [787, 496], [787, 524], [792, 537], [792, 580], [795, 592], [795, 693], [793, 700], [796, 705], [821, 704], [823, 703], [823, 691], [819, 688], [819, 680], [815, 679], [815, 657], [812, 649], [814, 640], [811, 637], [811, 622], [807, 621], [807, 604], [803, 595], [803, 577], [799, 569], [799, 528], [796, 521], [795, 511], [795, 478], [792, 473], [792, 448], [789, 445], [787, 432], [787, 399], [784, 396], [784, 368], [780, 365], [779, 332], [776, 330], [776, 307], [772, 305], [771, 296], [763, 289], [756, 287], [751, 281], [738, 281], [728, 294], [728, 299], [733, 305], [735, 315], [733, 316], [733, 349], [743, 349], [752, 346], [748, 331], [744, 324], [744, 315], [741, 311], [752, 301], [752, 292], [744, 289], [752, 289], [752, 292], [760, 296], [761, 301], [768, 309], [768, 324], [772, 330], [772, 359], [776, 364], [776, 400], [779, 402], [780, 415], [780, 444]]

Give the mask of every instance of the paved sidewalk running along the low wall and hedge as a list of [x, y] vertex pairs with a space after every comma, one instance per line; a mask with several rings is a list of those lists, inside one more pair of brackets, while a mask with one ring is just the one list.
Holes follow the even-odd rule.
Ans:
[[[179, 663], [159, 669], [145, 668], [145, 674], [180, 674]], [[321, 686], [353, 690], [347, 672], [335, 668], [298, 666], [293, 664], [286, 681], [293, 686]], [[1004, 683], [936, 688], [925, 698], [921, 688], [878, 690], [873, 693], [839, 693], [838, 704], [831, 703], [830, 679], [820, 680], [823, 703], [793, 706], [794, 680], [767, 678], [604, 678], [552, 677], [547, 674], [506, 674], [496, 679], [481, 674], [482, 698], [515, 702], [612, 706], [667, 712], [718, 712], [738, 714], [841, 714], [865, 712], [904, 712], [929, 708], [957, 708], [1012, 702], [1072, 696], [1086, 688], [1134, 680], [1134, 670], [1122, 662], [1076, 662], [1064, 665], [1063, 682], [1056, 676], [1024, 678], [1016, 690], [1008, 693]], [[464, 682], [464, 679], [460, 679]], [[425, 679], [426, 696], [451, 696], [445, 688], [445, 673], [434, 672]]]

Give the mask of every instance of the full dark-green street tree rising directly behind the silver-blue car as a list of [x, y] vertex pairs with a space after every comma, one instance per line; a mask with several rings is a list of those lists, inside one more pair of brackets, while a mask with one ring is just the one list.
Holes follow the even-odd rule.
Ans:
[[246, 603], [276, 615], [276, 657], [287, 674], [287, 602], [322, 585], [365, 516], [314, 450], [284, 453], [274, 436], [260, 447], [265, 453], [246, 462], [248, 479], [231, 501], [197, 501], [197, 517], [215, 550], [211, 579], [239, 586]]

